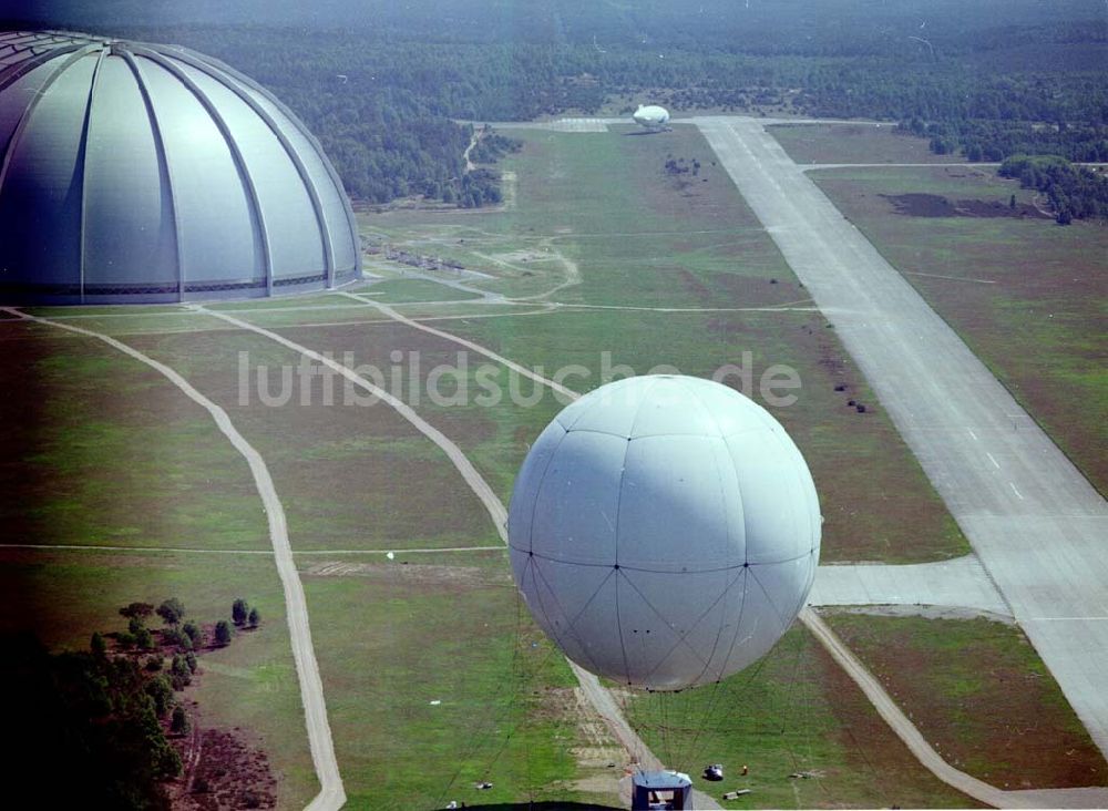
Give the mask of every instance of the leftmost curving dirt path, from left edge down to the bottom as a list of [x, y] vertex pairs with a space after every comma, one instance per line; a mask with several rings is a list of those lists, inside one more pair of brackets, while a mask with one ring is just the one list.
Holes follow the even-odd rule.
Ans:
[[311, 749], [311, 761], [319, 779], [320, 790], [308, 804], [311, 811], [330, 811], [346, 803], [346, 792], [342, 789], [342, 778], [339, 776], [338, 760], [335, 758], [335, 745], [331, 741], [331, 728], [327, 720], [327, 705], [324, 701], [324, 687], [319, 678], [319, 666], [316, 653], [311, 646], [311, 628], [308, 625], [308, 606], [304, 597], [304, 586], [293, 562], [293, 551], [288, 542], [288, 526], [285, 521], [285, 510], [281, 507], [277, 490], [274, 487], [269, 469], [261, 455], [238, 432], [227, 412], [197, 391], [181, 374], [153, 358], [143, 355], [137, 349], [117, 341], [101, 332], [93, 332], [82, 327], [58, 324], [47, 318], [29, 316], [14, 308], [0, 308], [7, 312], [39, 324], [45, 324], [57, 329], [95, 338], [124, 355], [145, 363], [163, 374], [193, 402], [204, 408], [223, 434], [230, 441], [246, 463], [250, 466], [254, 484], [261, 497], [269, 524], [269, 540], [273, 543], [273, 555], [280, 576], [281, 588], [285, 592], [285, 614], [288, 620], [289, 638], [293, 646], [293, 659], [296, 664], [296, 675], [300, 684], [300, 700], [304, 705], [305, 722], [308, 728], [308, 743]]

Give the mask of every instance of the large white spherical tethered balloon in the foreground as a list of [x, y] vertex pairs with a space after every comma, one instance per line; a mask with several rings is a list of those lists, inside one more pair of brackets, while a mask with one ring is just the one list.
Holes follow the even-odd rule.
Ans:
[[808, 598], [815, 485], [765, 409], [649, 376], [565, 408], [512, 493], [512, 571], [582, 667], [635, 687], [717, 681], [765, 655]]

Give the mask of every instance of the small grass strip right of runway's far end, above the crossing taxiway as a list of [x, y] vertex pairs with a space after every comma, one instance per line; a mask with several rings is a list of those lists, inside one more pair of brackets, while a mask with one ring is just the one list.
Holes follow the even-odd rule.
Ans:
[[799, 164], [965, 162], [963, 155], [936, 155], [927, 138], [892, 124], [781, 124], [767, 131]]

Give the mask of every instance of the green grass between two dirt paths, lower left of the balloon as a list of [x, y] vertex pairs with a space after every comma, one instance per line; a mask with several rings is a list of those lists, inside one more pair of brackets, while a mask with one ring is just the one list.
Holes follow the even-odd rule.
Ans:
[[401, 560], [342, 577], [301, 562], [348, 808], [582, 799], [575, 680], [504, 554]]

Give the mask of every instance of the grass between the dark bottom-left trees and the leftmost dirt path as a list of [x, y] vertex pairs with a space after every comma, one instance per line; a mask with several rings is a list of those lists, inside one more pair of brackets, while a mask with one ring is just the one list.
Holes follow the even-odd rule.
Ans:
[[281, 807], [302, 808], [318, 784], [271, 557], [0, 550], [0, 633], [30, 630], [54, 649], [88, 648], [93, 632], [126, 629], [121, 606], [171, 596], [201, 623], [229, 619], [236, 597], [260, 612], [258, 630], [201, 654], [201, 676], [186, 696], [198, 701], [203, 726], [240, 727], [263, 748]]

